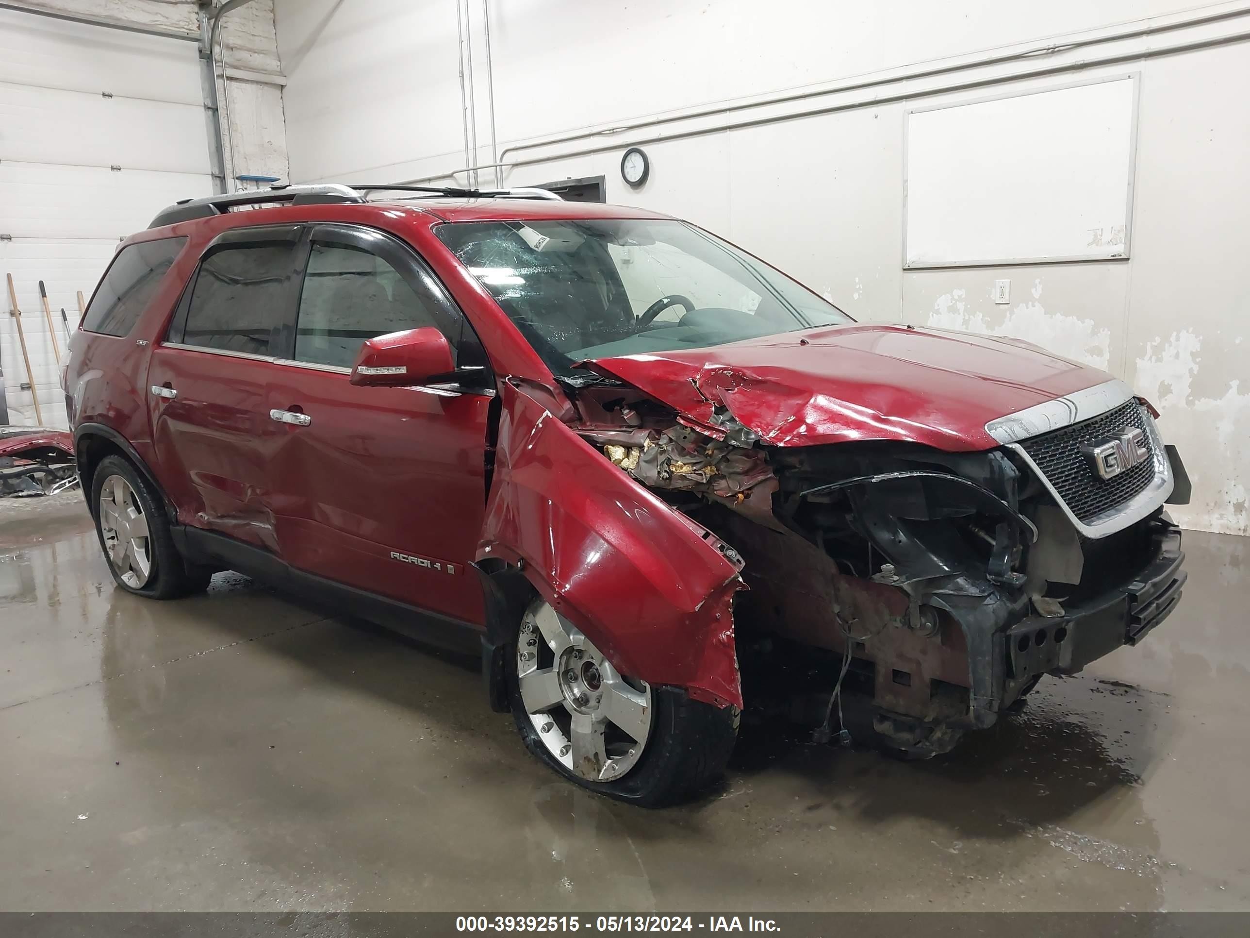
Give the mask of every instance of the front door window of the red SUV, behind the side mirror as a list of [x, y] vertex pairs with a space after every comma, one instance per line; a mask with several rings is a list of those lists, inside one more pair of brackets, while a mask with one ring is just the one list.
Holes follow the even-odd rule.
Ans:
[[300, 315], [295, 360], [351, 368], [365, 339], [420, 326], [439, 326], [455, 345], [442, 304], [414, 290], [376, 254], [342, 244], [312, 243]]

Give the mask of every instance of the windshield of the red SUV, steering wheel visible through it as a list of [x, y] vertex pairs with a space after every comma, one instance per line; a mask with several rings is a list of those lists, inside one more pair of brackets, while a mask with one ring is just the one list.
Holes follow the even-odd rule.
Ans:
[[556, 375], [584, 359], [850, 323], [805, 286], [684, 221], [462, 221], [438, 235]]

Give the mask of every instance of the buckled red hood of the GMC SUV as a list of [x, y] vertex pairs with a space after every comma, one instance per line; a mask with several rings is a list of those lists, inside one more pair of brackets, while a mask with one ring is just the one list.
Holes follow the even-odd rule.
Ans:
[[862, 324], [585, 366], [715, 436], [728, 415], [778, 446], [904, 440], [948, 451], [996, 446], [990, 420], [1110, 378], [1012, 339]]

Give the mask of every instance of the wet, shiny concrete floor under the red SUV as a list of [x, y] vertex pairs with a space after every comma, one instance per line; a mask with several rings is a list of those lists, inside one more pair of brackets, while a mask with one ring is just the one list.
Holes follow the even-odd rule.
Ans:
[[954, 753], [744, 739], [648, 812], [521, 748], [478, 675], [221, 574], [114, 589], [81, 497], [0, 503], [0, 909], [1250, 909], [1250, 540]]

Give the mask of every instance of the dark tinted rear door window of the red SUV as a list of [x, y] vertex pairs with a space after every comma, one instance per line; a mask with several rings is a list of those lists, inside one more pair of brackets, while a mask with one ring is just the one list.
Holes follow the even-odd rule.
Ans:
[[271, 355], [292, 276], [294, 245], [221, 248], [201, 264], [191, 289], [182, 341]]

